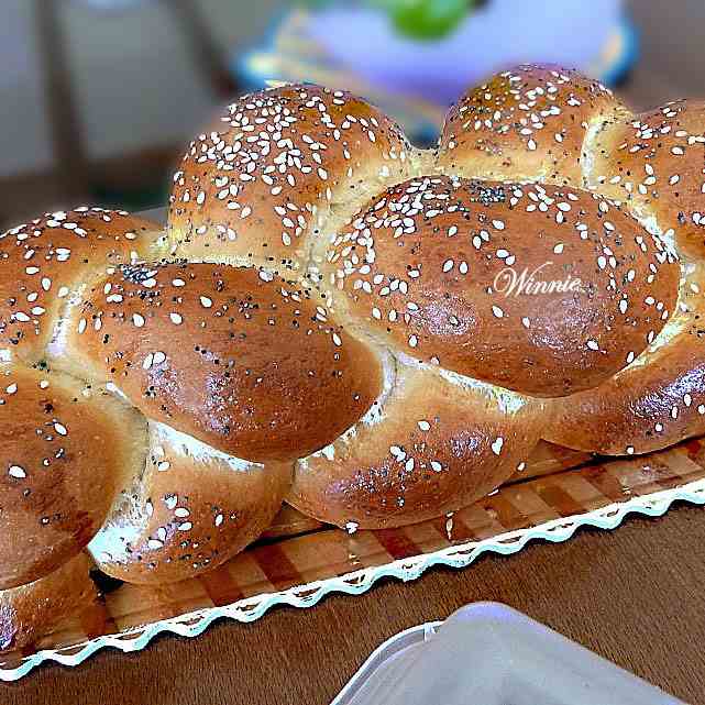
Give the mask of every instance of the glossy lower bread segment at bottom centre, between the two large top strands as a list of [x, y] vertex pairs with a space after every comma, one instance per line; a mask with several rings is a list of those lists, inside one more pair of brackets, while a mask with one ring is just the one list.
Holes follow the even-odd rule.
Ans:
[[371, 412], [297, 463], [287, 502], [349, 530], [442, 516], [521, 467], [544, 422], [538, 401], [408, 360]]

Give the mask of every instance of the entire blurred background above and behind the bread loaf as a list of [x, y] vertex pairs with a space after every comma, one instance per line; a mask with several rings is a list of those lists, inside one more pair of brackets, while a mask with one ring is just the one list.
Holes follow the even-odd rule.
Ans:
[[164, 205], [217, 106], [272, 80], [355, 90], [431, 143], [465, 86], [520, 60], [636, 108], [705, 98], [703, 0], [0, 0], [0, 229]]

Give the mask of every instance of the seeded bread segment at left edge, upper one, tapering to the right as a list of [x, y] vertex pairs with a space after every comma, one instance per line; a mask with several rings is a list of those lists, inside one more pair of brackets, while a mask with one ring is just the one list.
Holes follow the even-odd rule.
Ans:
[[79, 208], [0, 234], [0, 360], [38, 360], [86, 278], [145, 256], [159, 230], [124, 211]]

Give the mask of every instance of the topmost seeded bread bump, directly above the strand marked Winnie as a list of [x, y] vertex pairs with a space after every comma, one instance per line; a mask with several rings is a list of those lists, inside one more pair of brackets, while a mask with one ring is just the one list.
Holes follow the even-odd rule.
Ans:
[[577, 71], [518, 66], [451, 108], [438, 165], [466, 177], [582, 186], [590, 129], [626, 113], [610, 90]]

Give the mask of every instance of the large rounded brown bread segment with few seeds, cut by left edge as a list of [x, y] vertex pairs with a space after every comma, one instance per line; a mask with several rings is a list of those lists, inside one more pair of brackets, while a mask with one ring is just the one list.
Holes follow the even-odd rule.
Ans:
[[0, 366], [0, 590], [79, 553], [144, 462], [141, 416], [46, 370]]

